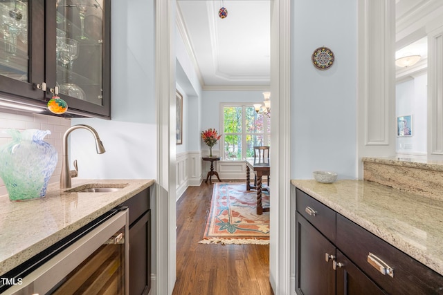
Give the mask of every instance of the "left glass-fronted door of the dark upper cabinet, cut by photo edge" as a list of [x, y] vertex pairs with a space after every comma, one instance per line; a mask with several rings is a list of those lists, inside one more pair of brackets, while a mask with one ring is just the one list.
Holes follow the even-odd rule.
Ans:
[[43, 0], [0, 0], [0, 98], [44, 99], [43, 14]]

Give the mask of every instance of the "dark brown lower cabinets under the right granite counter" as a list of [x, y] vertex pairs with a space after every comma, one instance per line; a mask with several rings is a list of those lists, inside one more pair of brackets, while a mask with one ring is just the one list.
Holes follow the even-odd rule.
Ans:
[[296, 293], [443, 294], [443, 276], [296, 189]]

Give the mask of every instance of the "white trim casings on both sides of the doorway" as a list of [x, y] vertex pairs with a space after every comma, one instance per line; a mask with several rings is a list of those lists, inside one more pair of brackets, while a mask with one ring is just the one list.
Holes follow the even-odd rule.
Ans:
[[[156, 1], [156, 102], [158, 118], [158, 176], [156, 192], [156, 289], [171, 294], [176, 279], [176, 204], [175, 204], [175, 1]], [[273, 119], [271, 142], [273, 171], [271, 190], [279, 198], [271, 199], [270, 280], [275, 294], [290, 291], [289, 195], [290, 195], [290, 24], [291, 1], [271, 1], [271, 93]], [[272, 62], [275, 61], [275, 62]], [[280, 66], [281, 65], [281, 66]], [[168, 81], [166, 83], [165, 81]], [[174, 112], [172, 112], [174, 110]], [[173, 143], [173, 144], [172, 144]], [[280, 164], [285, 159], [285, 164]], [[275, 234], [272, 234], [272, 233]]]

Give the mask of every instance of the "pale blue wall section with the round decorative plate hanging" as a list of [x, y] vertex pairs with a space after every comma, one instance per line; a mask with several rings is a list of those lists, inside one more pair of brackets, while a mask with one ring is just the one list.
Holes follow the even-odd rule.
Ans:
[[[356, 178], [356, 3], [293, 1], [293, 179], [312, 178], [316, 170]], [[334, 64], [327, 70], [318, 70], [311, 63], [312, 53], [320, 46], [330, 48], [335, 55]]]

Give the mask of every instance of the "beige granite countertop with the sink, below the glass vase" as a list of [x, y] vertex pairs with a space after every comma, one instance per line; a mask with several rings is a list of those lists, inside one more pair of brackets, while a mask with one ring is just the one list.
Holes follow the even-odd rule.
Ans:
[[8, 195], [0, 196], [0, 276], [154, 184], [154, 180], [77, 178], [72, 182], [73, 188], [125, 187], [106, 193], [66, 193], [55, 183], [36, 200], [11, 202]]

